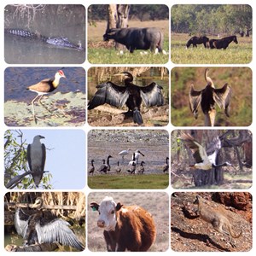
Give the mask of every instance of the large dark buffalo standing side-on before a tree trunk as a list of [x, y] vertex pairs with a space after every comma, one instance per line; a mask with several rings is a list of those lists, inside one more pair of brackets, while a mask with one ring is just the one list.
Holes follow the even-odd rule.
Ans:
[[103, 39], [113, 39], [119, 44], [124, 44], [131, 53], [135, 49], [158, 49], [162, 52], [164, 35], [157, 27], [127, 27], [112, 28], [103, 35]]

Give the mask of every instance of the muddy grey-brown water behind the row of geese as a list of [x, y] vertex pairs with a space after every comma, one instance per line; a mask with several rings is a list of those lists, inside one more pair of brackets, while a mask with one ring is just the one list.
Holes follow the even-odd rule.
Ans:
[[[123, 161], [118, 153], [128, 148], [131, 148], [131, 151]], [[102, 165], [102, 160], [106, 160], [110, 154], [113, 156], [110, 159], [111, 172], [115, 173], [114, 166], [117, 166], [117, 161], [125, 170], [132, 158], [132, 153], [137, 149], [144, 154], [139, 157], [139, 163], [142, 160], [145, 162], [144, 174], [162, 173], [162, 166], [166, 163], [166, 157], [169, 155], [168, 132], [163, 130], [90, 131], [88, 134], [88, 166], [90, 166], [90, 160], [93, 159], [97, 170]], [[100, 172], [95, 172], [95, 174], [100, 174]]]

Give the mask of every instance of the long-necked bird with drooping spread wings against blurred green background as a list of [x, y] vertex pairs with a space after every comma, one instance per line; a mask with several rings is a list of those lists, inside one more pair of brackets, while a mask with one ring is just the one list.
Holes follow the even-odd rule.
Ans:
[[203, 90], [195, 90], [194, 84], [191, 84], [189, 91], [189, 106], [195, 119], [198, 117], [198, 108], [201, 105], [202, 112], [209, 119], [206, 125], [214, 126], [215, 119], [215, 103], [219, 108], [224, 108], [226, 116], [230, 116], [230, 98], [231, 87], [229, 84], [224, 84], [222, 88], [216, 89], [212, 79], [208, 76], [209, 69], [205, 70], [205, 79], [207, 86]]

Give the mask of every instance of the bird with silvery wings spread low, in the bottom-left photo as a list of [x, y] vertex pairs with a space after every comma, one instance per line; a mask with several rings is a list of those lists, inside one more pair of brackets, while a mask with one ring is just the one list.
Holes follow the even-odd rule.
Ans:
[[44, 211], [44, 201], [38, 197], [32, 208], [38, 210], [25, 211], [18, 208], [15, 212], [15, 229], [24, 238], [24, 245], [35, 243], [59, 242], [62, 245], [84, 250], [84, 245], [69, 229], [69, 223], [57, 218], [49, 211]]

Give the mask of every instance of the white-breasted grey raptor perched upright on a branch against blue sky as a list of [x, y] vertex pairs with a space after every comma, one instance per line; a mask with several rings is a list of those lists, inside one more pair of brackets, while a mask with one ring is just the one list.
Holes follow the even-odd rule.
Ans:
[[46, 158], [45, 145], [44, 143], [40, 142], [41, 139], [44, 139], [44, 136], [35, 136], [33, 138], [33, 142], [28, 144], [26, 152], [28, 166], [32, 172], [33, 181], [37, 187], [44, 175], [44, 165]]

